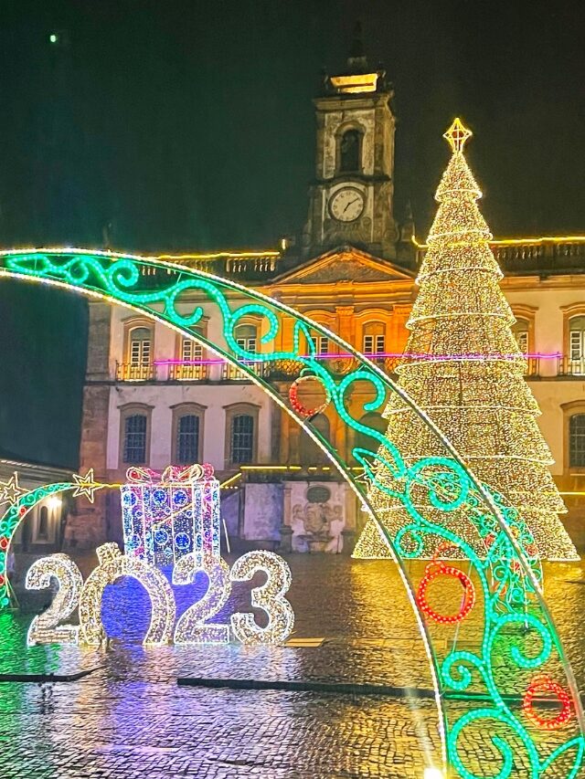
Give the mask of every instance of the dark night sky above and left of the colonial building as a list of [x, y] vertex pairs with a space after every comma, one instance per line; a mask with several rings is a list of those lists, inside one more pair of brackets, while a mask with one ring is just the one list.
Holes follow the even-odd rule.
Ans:
[[[356, 19], [396, 89], [419, 237], [460, 115], [497, 237], [585, 233], [579, 2], [2, 0], [0, 244], [274, 247], [313, 174], [311, 99]], [[51, 34], [58, 35], [52, 45]], [[0, 449], [75, 466], [87, 313], [0, 285]]]

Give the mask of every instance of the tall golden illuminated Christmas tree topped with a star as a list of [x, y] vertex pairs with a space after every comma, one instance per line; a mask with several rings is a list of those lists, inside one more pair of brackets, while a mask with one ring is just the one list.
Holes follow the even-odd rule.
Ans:
[[[476, 203], [482, 193], [463, 156], [471, 134], [456, 119], [444, 135], [452, 158], [435, 195], [440, 205], [417, 279], [420, 290], [407, 323], [410, 339], [398, 368], [399, 384], [451, 440], [475, 476], [520, 512], [542, 558], [579, 559], [558, 518], [567, 509], [548, 469], [553, 459], [537, 426], [537, 402], [524, 379], [526, 360], [511, 329], [514, 315], [499, 288], [503, 274]], [[407, 463], [445, 456], [441, 442], [398, 395], [384, 416], [388, 440]], [[375, 470], [378, 479], [388, 479], [379, 462]], [[369, 498], [392, 537], [410, 521], [399, 500], [375, 486]], [[426, 511], [426, 516], [436, 522], [446, 519], [441, 511]], [[449, 521], [458, 523], [465, 540], [481, 553], [465, 512], [449, 515]], [[431, 557], [440, 541], [428, 537], [416, 556]], [[371, 520], [356, 556], [388, 556]]]

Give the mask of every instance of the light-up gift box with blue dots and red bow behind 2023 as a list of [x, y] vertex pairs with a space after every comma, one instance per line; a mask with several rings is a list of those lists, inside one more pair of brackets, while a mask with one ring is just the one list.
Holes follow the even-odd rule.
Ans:
[[122, 484], [124, 552], [158, 568], [188, 553], [219, 558], [219, 482], [213, 466], [128, 468]]

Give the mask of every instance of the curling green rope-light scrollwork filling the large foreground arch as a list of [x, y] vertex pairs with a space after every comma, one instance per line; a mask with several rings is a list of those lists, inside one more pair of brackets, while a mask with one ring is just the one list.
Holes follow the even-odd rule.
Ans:
[[[398, 532], [393, 539], [388, 539], [397, 555], [402, 559], [409, 556], [408, 549], [404, 546], [407, 530], [410, 532], [410, 542], [412, 539], [415, 542], [418, 539], [418, 542], [422, 543], [425, 534], [437, 535], [463, 553], [480, 585], [481, 595], [474, 608], [482, 608], [483, 618], [481, 638], [476, 650], [471, 651], [467, 647], [468, 642], [464, 641], [466, 622], [460, 626], [465, 649], [456, 649], [453, 642], [452, 649], [447, 649], [442, 658], [437, 648], [439, 645], [433, 649], [435, 667], [439, 668], [438, 677], [443, 692], [470, 692], [472, 686], [478, 684], [480, 691], [492, 701], [489, 706], [478, 707], [472, 698], [467, 699], [469, 711], [463, 715], [453, 711], [452, 723], [447, 720], [445, 712], [441, 711], [446, 729], [449, 764], [463, 779], [508, 779], [518, 766], [526, 766], [526, 763], [522, 762], [524, 758], [529, 764], [531, 779], [540, 779], [560, 758], [574, 751], [574, 763], [565, 779], [575, 779], [585, 756], [585, 741], [580, 730], [580, 700], [569, 664], [538, 588], [542, 581], [540, 565], [534, 555], [527, 554], [527, 548], [533, 542], [531, 534], [524, 522], [519, 520], [514, 507], [506, 505], [502, 496], [489, 490], [488, 486], [478, 485], [473, 480], [468, 469], [455, 458], [450, 442], [441, 436], [432, 426], [431, 420], [399, 387], [381, 374], [375, 365], [368, 363], [363, 355], [356, 353], [335, 334], [325, 331], [321, 325], [306, 320], [278, 301], [263, 298], [259, 293], [227, 279], [216, 279], [190, 268], [144, 258], [115, 255], [104, 257], [98, 254], [76, 253], [74, 250], [5, 253], [2, 261], [11, 275], [56, 281], [75, 289], [88, 290], [107, 300], [122, 302], [139, 311], [145, 311], [158, 321], [166, 321], [176, 329], [195, 336], [214, 351], [226, 356], [229, 361], [239, 362], [241, 369], [248, 373], [250, 378], [275, 397], [277, 392], [261, 377], [254, 376], [250, 364], [270, 365], [281, 360], [292, 360], [299, 365], [300, 375], [313, 374], [323, 382], [332, 398], [335, 412], [343, 423], [355, 433], [367, 435], [379, 447], [378, 452], [365, 447], [353, 449], [353, 456], [363, 466], [370, 484], [398, 498], [410, 515], [408, 528], [405, 528], [404, 532]], [[143, 268], [152, 269], [154, 274], [160, 271], [163, 280], [156, 289], [137, 289], [143, 281]], [[194, 329], [204, 315], [203, 305], [188, 303], [188, 311], [178, 310], [179, 305], [184, 308], [187, 306], [186, 293], [201, 293], [209, 303], [217, 307], [223, 324], [225, 343], [208, 342]], [[234, 300], [243, 298], [250, 302], [232, 311], [227, 297], [229, 293], [235, 295]], [[277, 341], [282, 320], [287, 317], [292, 319], [293, 350], [251, 353], [240, 347], [235, 331], [242, 318], [250, 315], [261, 320], [261, 344], [265, 348]], [[336, 379], [324, 361], [317, 359], [311, 340], [312, 331], [326, 335], [332, 342], [337, 343], [344, 353], [352, 353], [357, 363], [356, 370], [341, 380]], [[305, 351], [307, 353], [303, 353]], [[352, 385], [356, 382], [360, 385], [367, 383], [373, 390], [374, 397], [364, 405], [364, 410], [382, 409], [388, 401], [388, 395], [397, 393], [430, 427], [433, 435], [441, 437], [441, 443], [450, 456], [421, 458], [407, 465], [398, 447], [378, 430], [364, 425], [348, 413], [348, 397]], [[310, 421], [303, 420], [294, 413], [293, 416], [296, 416], [304, 427], [311, 426]], [[314, 435], [324, 444], [324, 439], [319, 437], [318, 432], [314, 431]], [[342, 472], [348, 474], [349, 468], [339, 453], [329, 447], [329, 454]], [[352, 479], [363, 495], [363, 485], [356, 482], [356, 477], [352, 476]], [[61, 488], [69, 489], [70, 486], [62, 485]], [[444, 523], [427, 519], [425, 512], [431, 510], [442, 512]], [[8, 513], [10, 511], [13, 510]], [[462, 536], [449, 529], [449, 517], [455, 511], [463, 511], [484, 540], [486, 553], [483, 557], [475, 553]], [[375, 516], [375, 511], [372, 512]], [[500, 521], [498, 512], [504, 523]], [[384, 530], [383, 521], [376, 516], [375, 519]], [[14, 527], [16, 523], [13, 523]], [[384, 531], [384, 534], [388, 538], [388, 531]], [[5, 566], [1, 553], [0, 563]], [[404, 573], [404, 569], [401, 570]], [[410, 584], [410, 592], [414, 595], [413, 584]], [[426, 640], [426, 637], [431, 637], [435, 626], [425, 619], [420, 607], [418, 612], [421, 625], [424, 626], [423, 638]], [[471, 636], [473, 629], [470, 628]], [[526, 649], [523, 642], [526, 642]], [[505, 652], [512, 664], [512, 672], [504, 674], [504, 677], [501, 673], [498, 675], [498, 665], [495, 662], [502, 659], [502, 652]], [[544, 736], [539, 733], [537, 739], [534, 729], [528, 730], [522, 716], [516, 715], [509, 704], [507, 686], [510, 685], [514, 692], [514, 682], [523, 683], [525, 677], [537, 668], [551, 668], [552, 673], [557, 673], [558, 668], [564, 669], [569, 680], [573, 705], [579, 714], [578, 718], [573, 717], [572, 727], [574, 729], [577, 726], [579, 734], [571, 734], [560, 745], [558, 740], [548, 743], [544, 739], [546, 733]], [[442, 709], [446, 705], [447, 700], [443, 699]], [[490, 721], [496, 723], [498, 732], [490, 728]], [[501, 756], [496, 774], [486, 773], [491, 771], [488, 765], [481, 765], [478, 769], [481, 774], [472, 773], [460, 755], [460, 737], [471, 726], [479, 726], [482, 732], [492, 733], [491, 742]], [[509, 732], [509, 740], [504, 738], [500, 731]], [[518, 742], [521, 744], [521, 751], [518, 751]], [[541, 753], [547, 751], [548, 754], [541, 756]]]

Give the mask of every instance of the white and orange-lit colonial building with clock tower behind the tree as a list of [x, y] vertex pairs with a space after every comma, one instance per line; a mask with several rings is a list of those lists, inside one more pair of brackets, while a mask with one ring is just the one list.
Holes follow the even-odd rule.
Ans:
[[[407, 342], [424, 252], [411, 220], [398, 225], [393, 216], [391, 99], [384, 73], [370, 72], [360, 52], [348, 60], [345, 74], [326, 80], [314, 101], [315, 177], [299, 245], [180, 258], [282, 300], [372, 355], [388, 374]], [[556, 460], [553, 473], [569, 507], [567, 527], [582, 547], [585, 237], [496, 240], [493, 247], [505, 270], [502, 286], [516, 315], [516, 337], [528, 355], [539, 422]], [[221, 342], [211, 312], [201, 332]], [[261, 351], [261, 322], [254, 316], [240, 321], [236, 336], [248, 351]], [[158, 470], [207, 461], [225, 484], [223, 513], [232, 542], [351, 550], [364, 521], [355, 496], [312, 440], [245, 374], [198, 342], [101, 302], [90, 302], [89, 338], [81, 469], [93, 467], [112, 482], [122, 481], [131, 465]], [[337, 356], [326, 337], [315, 334], [314, 345], [336, 373], [348, 370], [350, 361]], [[274, 370], [284, 395], [292, 380], [287, 366]], [[362, 400], [357, 387], [351, 402], [358, 409]], [[386, 428], [381, 416], [368, 423]], [[347, 439], [345, 428], [326, 410], [316, 424], [350, 459], [356, 440]], [[119, 540], [113, 493], [108, 500], [99, 496], [93, 507], [80, 501], [66, 533], [69, 541], [87, 545]]]

